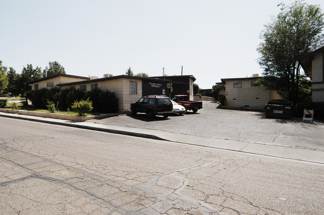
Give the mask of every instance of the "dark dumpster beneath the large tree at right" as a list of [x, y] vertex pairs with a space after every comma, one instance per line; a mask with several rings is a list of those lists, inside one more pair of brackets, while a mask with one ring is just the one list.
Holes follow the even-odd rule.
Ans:
[[283, 100], [273, 100], [266, 104], [266, 117], [290, 118], [293, 102]]

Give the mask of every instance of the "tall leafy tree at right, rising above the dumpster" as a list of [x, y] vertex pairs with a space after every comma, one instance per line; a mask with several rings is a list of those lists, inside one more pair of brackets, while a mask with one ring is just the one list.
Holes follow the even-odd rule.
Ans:
[[264, 69], [259, 82], [285, 100], [298, 102], [301, 79], [298, 58], [324, 44], [323, 13], [319, 5], [296, 0], [265, 25], [257, 48], [258, 63]]

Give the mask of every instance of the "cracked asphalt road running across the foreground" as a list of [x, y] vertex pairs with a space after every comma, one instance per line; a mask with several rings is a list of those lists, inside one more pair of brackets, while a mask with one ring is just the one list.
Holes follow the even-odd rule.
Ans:
[[322, 215], [324, 166], [0, 117], [0, 214]]

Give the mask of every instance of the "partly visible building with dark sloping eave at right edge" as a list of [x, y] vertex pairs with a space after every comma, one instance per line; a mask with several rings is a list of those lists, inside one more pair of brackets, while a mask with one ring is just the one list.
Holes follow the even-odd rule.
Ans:
[[312, 80], [313, 102], [324, 102], [324, 46], [302, 56], [299, 62]]

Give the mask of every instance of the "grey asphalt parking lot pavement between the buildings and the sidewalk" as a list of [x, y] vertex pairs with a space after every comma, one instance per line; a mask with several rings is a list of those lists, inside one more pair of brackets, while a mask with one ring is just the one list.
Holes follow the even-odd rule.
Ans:
[[149, 119], [139, 113], [96, 120], [96, 123], [324, 151], [323, 121], [312, 124], [301, 118], [266, 118], [264, 112], [216, 107], [214, 102], [203, 102], [203, 108], [196, 113], [188, 111], [167, 119], [160, 116]]

